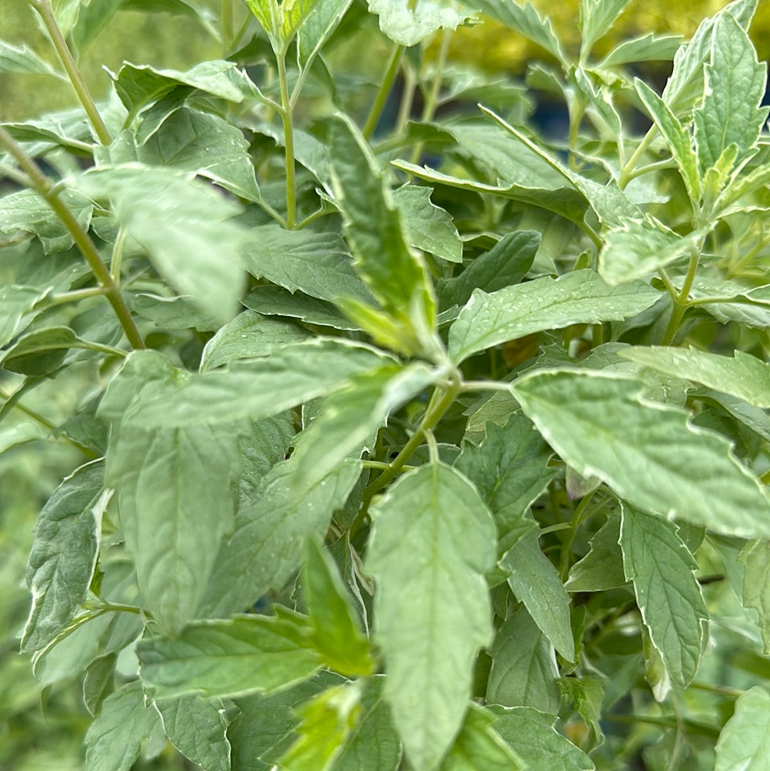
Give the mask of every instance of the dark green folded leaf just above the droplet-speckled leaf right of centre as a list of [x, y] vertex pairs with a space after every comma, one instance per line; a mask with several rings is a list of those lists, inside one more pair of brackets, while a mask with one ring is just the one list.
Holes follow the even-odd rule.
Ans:
[[459, 276], [439, 284], [442, 307], [465, 305], [474, 289], [492, 292], [518, 284], [532, 267], [539, 248], [540, 233], [536, 231], [506, 233]]

